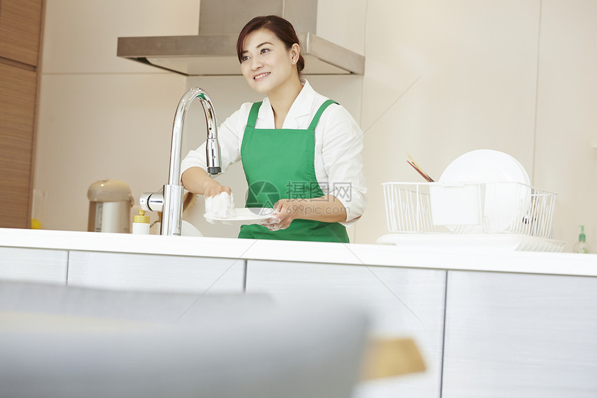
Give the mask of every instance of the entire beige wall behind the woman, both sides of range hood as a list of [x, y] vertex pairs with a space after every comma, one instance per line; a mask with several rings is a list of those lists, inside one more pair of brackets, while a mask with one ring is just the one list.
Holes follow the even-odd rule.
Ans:
[[[187, 87], [210, 93], [220, 121], [260, 96], [241, 76], [184, 78], [115, 56], [119, 36], [192, 35], [196, 0], [47, 0], [35, 188], [48, 191], [47, 229], [85, 230], [87, 188], [121, 179], [133, 196], [166, 183], [174, 110]], [[539, 188], [559, 192], [553, 238], [587, 225], [597, 247], [597, 3], [594, 1], [320, 0], [318, 33], [364, 53], [364, 76], [308, 76], [365, 132], [369, 207], [354, 242], [387, 233], [380, 183], [421, 181], [473, 149], [517, 158]], [[197, 104], [184, 147], [199, 144]], [[219, 177], [242, 204], [241, 167]], [[203, 202], [187, 215], [205, 235]], [[571, 244], [569, 244], [571, 248]]]

